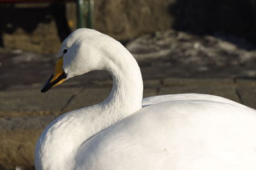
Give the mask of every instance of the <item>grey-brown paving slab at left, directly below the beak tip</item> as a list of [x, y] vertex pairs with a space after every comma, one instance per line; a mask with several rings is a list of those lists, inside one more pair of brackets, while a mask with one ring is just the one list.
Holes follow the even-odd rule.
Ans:
[[0, 92], [0, 117], [58, 114], [79, 89], [54, 88], [45, 94], [41, 94], [40, 89]]

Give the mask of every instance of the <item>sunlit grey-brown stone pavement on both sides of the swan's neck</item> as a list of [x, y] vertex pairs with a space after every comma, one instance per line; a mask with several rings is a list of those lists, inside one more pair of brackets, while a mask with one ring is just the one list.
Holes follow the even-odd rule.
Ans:
[[[67, 83], [67, 84], [65, 84]], [[40, 94], [31, 89], [0, 92], [0, 169], [33, 168], [36, 139], [54, 118], [76, 108], [104, 100], [111, 81], [96, 81], [88, 87], [67, 81]], [[73, 87], [69, 85], [72, 84]], [[227, 97], [256, 108], [256, 81], [231, 78], [156, 78], [144, 80], [144, 97], [162, 94], [203, 93]]]

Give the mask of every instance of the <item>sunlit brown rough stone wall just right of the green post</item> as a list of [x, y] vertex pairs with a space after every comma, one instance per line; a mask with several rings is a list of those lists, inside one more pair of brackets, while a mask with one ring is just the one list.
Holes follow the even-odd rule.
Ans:
[[[168, 6], [175, 1], [95, 1], [95, 27], [117, 39], [168, 29], [173, 17]], [[104, 16], [104, 17], [102, 17]]]

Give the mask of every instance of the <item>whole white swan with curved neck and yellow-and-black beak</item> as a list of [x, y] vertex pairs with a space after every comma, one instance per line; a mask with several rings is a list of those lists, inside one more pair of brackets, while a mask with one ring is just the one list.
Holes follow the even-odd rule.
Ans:
[[59, 56], [42, 92], [93, 70], [108, 71], [113, 89], [102, 103], [48, 125], [36, 144], [37, 170], [256, 169], [252, 108], [205, 94], [142, 101], [136, 60], [118, 41], [91, 29], [72, 32]]

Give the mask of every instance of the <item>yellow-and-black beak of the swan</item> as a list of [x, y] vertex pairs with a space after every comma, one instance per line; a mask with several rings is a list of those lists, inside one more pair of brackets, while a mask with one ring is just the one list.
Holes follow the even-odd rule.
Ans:
[[55, 71], [49, 80], [45, 83], [44, 87], [42, 88], [41, 92], [45, 93], [50, 90], [52, 87], [56, 85], [60, 85], [63, 81], [66, 80], [67, 74], [63, 71], [63, 57], [57, 60]]

